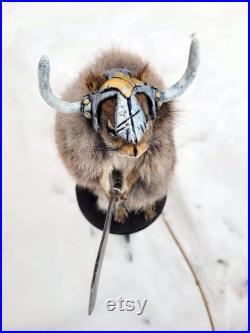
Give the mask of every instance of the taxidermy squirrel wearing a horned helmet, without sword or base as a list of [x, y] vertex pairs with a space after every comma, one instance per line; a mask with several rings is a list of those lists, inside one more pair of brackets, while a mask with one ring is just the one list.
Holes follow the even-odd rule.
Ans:
[[49, 60], [41, 58], [40, 92], [57, 111], [56, 144], [77, 184], [91, 190], [106, 210], [109, 174], [117, 169], [123, 175], [117, 222], [130, 211], [152, 219], [155, 202], [166, 196], [176, 161], [172, 101], [192, 83], [198, 64], [193, 38], [185, 73], [166, 89], [139, 56], [111, 50], [80, 72], [61, 100], [49, 85]]

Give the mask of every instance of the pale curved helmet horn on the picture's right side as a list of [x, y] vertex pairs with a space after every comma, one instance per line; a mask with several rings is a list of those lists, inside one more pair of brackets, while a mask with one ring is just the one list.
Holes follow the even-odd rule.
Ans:
[[162, 93], [162, 102], [169, 102], [182, 95], [193, 82], [200, 63], [199, 41], [193, 37], [185, 73], [172, 87]]

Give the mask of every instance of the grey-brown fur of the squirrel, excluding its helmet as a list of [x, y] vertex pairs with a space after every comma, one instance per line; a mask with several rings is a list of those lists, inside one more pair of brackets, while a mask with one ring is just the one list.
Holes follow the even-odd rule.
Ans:
[[[111, 68], [122, 67], [133, 72], [134, 77], [143, 79], [147, 84], [164, 89], [160, 77], [140, 57], [113, 50], [102, 54], [93, 65], [83, 70], [78, 79], [64, 95], [68, 101], [79, 101], [88, 92], [95, 92], [104, 83], [103, 73]], [[137, 96], [143, 111], [148, 114], [145, 96]], [[120, 214], [126, 211], [144, 210], [149, 218], [153, 214], [153, 204], [167, 194], [175, 164], [175, 146], [173, 141], [174, 108], [171, 103], [163, 104], [154, 122], [149, 122], [149, 130], [137, 145], [138, 158], [133, 155], [133, 147], [118, 137], [112, 137], [108, 127], [114, 126], [114, 99], [103, 102], [101, 106], [101, 130], [96, 133], [91, 120], [82, 114], [56, 116], [56, 143], [60, 156], [76, 179], [78, 185], [94, 191], [99, 197], [100, 205], [109, 196], [107, 170], [119, 167], [124, 175], [124, 186]], [[105, 147], [119, 151], [107, 151]], [[146, 151], [144, 152], [144, 150]], [[124, 154], [120, 157], [119, 154]], [[127, 155], [126, 155], [127, 154]], [[106, 182], [106, 183], [105, 183]], [[101, 203], [102, 201], [102, 203]], [[105, 205], [106, 205], [105, 204]], [[121, 217], [120, 220], [122, 220]]]

